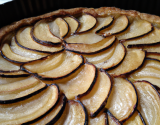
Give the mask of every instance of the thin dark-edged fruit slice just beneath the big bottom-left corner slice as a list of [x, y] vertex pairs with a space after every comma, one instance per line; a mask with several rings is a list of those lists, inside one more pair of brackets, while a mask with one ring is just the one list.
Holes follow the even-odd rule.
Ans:
[[35, 121], [33, 123], [29, 123], [30, 125], [51, 125], [54, 124], [63, 114], [64, 109], [66, 107], [67, 98], [63, 94], [58, 104], [56, 104], [53, 108], [51, 108], [45, 116], [43, 116], [41, 119], [38, 119], [38, 121]]

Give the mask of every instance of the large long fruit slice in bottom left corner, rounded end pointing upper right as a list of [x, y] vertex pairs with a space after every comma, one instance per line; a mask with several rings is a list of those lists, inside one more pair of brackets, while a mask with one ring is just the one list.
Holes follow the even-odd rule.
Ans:
[[20, 102], [0, 105], [0, 124], [22, 124], [35, 120], [51, 109], [59, 98], [56, 85], [51, 85], [34, 96]]

